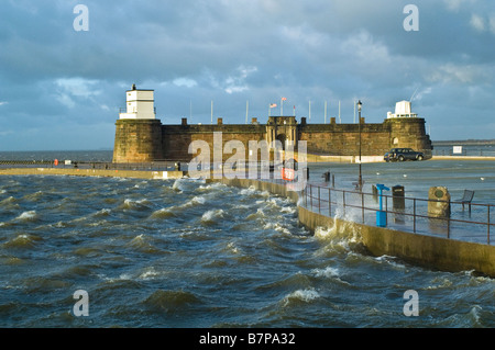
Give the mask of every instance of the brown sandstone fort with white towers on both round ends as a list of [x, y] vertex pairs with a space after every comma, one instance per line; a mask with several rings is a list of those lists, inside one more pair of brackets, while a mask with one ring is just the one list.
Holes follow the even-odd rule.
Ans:
[[[160, 160], [189, 161], [194, 140], [205, 140], [213, 149], [213, 133], [221, 132], [222, 144], [240, 140], [249, 149], [250, 140], [279, 140], [283, 147], [307, 142], [307, 154], [317, 156], [358, 156], [361, 139], [362, 156], [383, 156], [391, 148], [413, 148], [431, 157], [431, 140], [426, 134], [425, 120], [411, 113], [410, 102], [396, 104], [395, 114], [388, 113], [383, 123], [340, 124], [331, 117], [328, 124], [311, 124], [306, 117], [268, 116], [266, 124], [253, 117], [251, 124], [190, 125], [187, 118], [179, 125], [163, 125], [156, 118], [154, 90], [132, 86], [127, 94], [127, 111], [116, 123], [113, 162], [150, 162]], [[222, 147], [223, 147], [222, 145]], [[223, 153], [223, 160], [232, 154]], [[245, 155], [249, 158], [249, 155]]]

